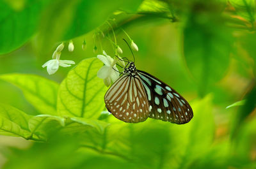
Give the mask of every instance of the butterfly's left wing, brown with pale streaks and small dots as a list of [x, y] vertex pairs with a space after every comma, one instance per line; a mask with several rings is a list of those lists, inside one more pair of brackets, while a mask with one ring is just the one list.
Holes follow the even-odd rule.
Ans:
[[106, 108], [124, 122], [142, 122], [148, 118], [148, 101], [138, 75], [123, 75], [104, 96]]

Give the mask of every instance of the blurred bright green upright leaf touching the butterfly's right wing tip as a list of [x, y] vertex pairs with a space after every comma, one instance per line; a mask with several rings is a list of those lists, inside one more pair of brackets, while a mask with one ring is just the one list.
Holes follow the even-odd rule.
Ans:
[[194, 101], [192, 108], [194, 117], [188, 124], [190, 126], [189, 142], [179, 168], [191, 168], [189, 165], [193, 166], [194, 161], [204, 157], [213, 143], [215, 124], [212, 114], [212, 96], [209, 94], [201, 100]]

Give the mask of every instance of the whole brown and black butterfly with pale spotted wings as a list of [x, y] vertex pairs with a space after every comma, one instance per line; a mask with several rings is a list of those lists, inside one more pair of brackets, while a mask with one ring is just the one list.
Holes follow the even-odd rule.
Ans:
[[143, 122], [148, 117], [176, 124], [189, 122], [193, 110], [188, 101], [158, 78], [136, 70], [129, 62], [122, 76], [104, 96], [106, 108], [124, 122]]

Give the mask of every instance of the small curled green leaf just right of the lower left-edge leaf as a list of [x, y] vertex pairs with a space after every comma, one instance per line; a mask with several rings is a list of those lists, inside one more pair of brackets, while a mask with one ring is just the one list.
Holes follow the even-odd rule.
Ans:
[[45, 141], [47, 140], [47, 136], [52, 135], [61, 126], [65, 126], [65, 119], [54, 115], [40, 114], [29, 120], [32, 139], [35, 138]]

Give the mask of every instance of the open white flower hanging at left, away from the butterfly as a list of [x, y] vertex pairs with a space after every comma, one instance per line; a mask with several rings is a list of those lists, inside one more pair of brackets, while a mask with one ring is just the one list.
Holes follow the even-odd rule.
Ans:
[[47, 66], [47, 72], [49, 73], [49, 75], [52, 75], [59, 69], [59, 66], [69, 67], [71, 66], [71, 64], [76, 64], [76, 63], [74, 61], [60, 60], [59, 58], [57, 58], [57, 59], [51, 59], [50, 61], [45, 62], [45, 64], [43, 64], [42, 67], [45, 68], [45, 66]]

